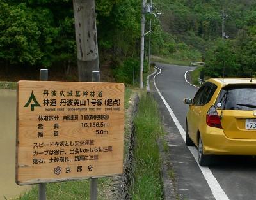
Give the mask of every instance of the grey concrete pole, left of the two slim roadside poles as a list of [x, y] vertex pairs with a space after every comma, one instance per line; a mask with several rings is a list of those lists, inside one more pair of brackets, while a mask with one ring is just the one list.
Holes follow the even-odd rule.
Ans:
[[145, 39], [145, 0], [142, 0], [141, 9], [141, 42], [140, 42], [140, 88], [143, 89], [144, 73], [144, 39]]

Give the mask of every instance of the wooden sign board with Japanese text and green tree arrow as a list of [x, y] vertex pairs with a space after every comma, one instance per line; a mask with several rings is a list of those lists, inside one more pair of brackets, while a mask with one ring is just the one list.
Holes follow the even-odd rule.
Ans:
[[20, 81], [16, 183], [123, 173], [124, 84]]

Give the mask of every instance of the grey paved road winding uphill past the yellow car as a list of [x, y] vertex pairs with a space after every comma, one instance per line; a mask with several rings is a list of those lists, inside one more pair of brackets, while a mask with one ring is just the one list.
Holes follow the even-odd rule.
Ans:
[[[175, 172], [181, 199], [256, 199], [256, 162], [252, 157], [218, 156], [210, 168], [200, 167], [197, 149], [185, 144], [185, 97], [193, 97], [196, 87], [185, 80], [191, 67], [156, 64], [152, 77], [154, 96], [159, 102], [169, 145], [168, 159]], [[256, 132], [255, 132], [256, 134]]]

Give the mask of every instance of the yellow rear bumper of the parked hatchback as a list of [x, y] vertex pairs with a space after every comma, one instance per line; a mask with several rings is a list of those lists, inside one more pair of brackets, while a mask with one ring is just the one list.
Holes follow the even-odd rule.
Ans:
[[201, 134], [201, 137], [204, 154], [256, 155], [256, 139], [227, 138], [222, 129], [212, 127], [208, 127], [207, 134]]

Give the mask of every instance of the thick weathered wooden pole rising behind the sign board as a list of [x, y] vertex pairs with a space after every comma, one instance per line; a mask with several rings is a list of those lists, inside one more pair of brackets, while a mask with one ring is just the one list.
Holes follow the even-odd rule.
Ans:
[[92, 72], [99, 71], [95, 1], [73, 0], [73, 6], [79, 81], [92, 82]]

